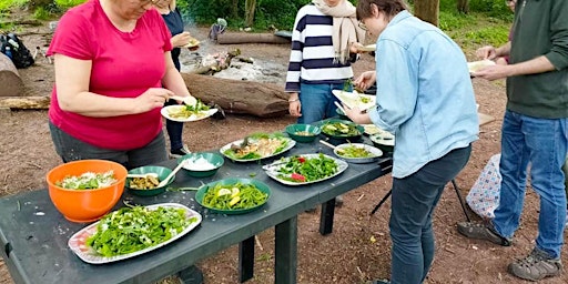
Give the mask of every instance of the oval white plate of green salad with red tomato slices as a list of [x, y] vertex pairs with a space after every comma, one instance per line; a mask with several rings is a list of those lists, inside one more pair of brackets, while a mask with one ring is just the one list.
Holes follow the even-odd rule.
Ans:
[[286, 185], [305, 185], [332, 179], [347, 169], [339, 159], [318, 153], [285, 156], [264, 165], [266, 174]]

